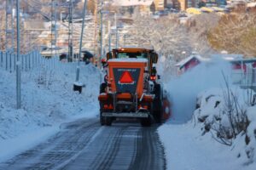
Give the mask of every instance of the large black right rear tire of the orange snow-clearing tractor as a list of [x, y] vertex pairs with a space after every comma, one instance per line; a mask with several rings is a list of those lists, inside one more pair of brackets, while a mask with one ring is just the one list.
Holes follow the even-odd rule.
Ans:
[[163, 113], [163, 97], [160, 84], [154, 85], [154, 94], [155, 99], [153, 102], [153, 110], [154, 110], [154, 122], [161, 123], [162, 122], [162, 113]]

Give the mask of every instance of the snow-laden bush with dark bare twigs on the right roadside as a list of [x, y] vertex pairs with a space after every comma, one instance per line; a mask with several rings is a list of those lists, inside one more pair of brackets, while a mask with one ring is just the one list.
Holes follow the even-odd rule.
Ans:
[[256, 107], [248, 94], [255, 95], [253, 90], [228, 84], [203, 91], [197, 97], [193, 119], [202, 135], [211, 133], [219, 143], [235, 148], [236, 156], [243, 157], [245, 164], [256, 161]]

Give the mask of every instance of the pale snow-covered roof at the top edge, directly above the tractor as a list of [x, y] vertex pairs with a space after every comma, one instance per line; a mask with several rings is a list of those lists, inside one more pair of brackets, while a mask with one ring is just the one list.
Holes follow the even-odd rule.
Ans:
[[153, 0], [114, 0], [113, 5], [116, 6], [137, 6], [145, 5], [149, 6], [153, 3]]

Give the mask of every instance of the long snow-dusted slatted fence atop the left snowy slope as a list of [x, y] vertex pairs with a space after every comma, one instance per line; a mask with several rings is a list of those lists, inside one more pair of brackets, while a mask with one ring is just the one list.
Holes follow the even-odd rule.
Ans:
[[[39, 51], [20, 54], [21, 71], [40, 70], [42, 68], [55, 72], [74, 72], [77, 62], [61, 62], [58, 57], [44, 58]], [[0, 69], [15, 72], [16, 54], [0, 51]]]

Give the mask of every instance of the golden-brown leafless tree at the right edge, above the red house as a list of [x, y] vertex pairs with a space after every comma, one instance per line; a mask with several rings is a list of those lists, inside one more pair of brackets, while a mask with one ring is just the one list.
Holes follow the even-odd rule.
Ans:
[[256, 13], [224, 15], [208, 35], [213, 48], [230, 53], [256, 55]]

